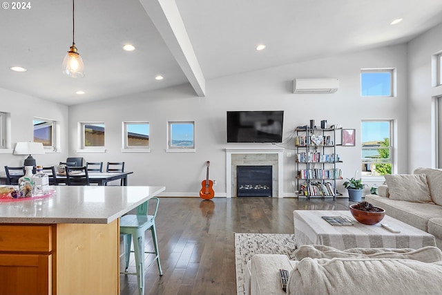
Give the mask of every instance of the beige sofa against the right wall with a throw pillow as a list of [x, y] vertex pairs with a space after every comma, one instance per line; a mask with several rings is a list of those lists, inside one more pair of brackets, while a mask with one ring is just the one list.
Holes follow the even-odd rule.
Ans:
[[365, 201], [388, 216], [432, 234], [442, 249], [442, 169], [417, 168], [413, 174], [385, 175], [386, 185]]

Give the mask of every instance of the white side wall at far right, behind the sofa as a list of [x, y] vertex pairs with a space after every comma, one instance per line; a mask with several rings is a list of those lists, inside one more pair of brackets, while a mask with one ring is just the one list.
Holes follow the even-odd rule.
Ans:
[[410, 129], [409, 172], [419, 166], [435, 167], [432, 161], [434, 108], [432, 97], [442, 95], [442, 86], [432, 87], [432, 55], [442, 50], [442, 24], [412, 40], [408, 46]]

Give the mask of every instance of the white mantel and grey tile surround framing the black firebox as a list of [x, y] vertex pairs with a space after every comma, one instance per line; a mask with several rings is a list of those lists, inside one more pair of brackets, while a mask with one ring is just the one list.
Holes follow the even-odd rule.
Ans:
[[[284, 194], [282, 148], [234, 148], [226, 149], [226, 197], [236, 197], [236, 166], [271, 165], [273, 167], [273, 198], [282, 198]], [[247, 197], [244, 197], [247, 198]]]

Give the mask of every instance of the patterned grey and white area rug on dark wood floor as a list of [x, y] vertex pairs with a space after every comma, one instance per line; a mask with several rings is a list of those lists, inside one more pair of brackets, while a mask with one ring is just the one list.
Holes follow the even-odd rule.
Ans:
[[286, 254], [294, 257], [294, 234], [240, 234], [235, 233], [236, 289], [238, 295], [245, 292], [247, 261], [255, 254]]

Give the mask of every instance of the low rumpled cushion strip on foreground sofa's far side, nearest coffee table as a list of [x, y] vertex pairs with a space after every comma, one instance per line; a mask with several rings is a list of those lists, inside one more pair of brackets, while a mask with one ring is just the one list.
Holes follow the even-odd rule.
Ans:
[[[441, 218], [442, 219], [442, 218]], [[395, 258], [412, 259], [424, 263], [442, 261], [442, 251], [437, 247], [421, 249], [353, 248], [339, 250], [324, 245], [302, 245], [294, 252], [296, 260], [303, 258]]]

